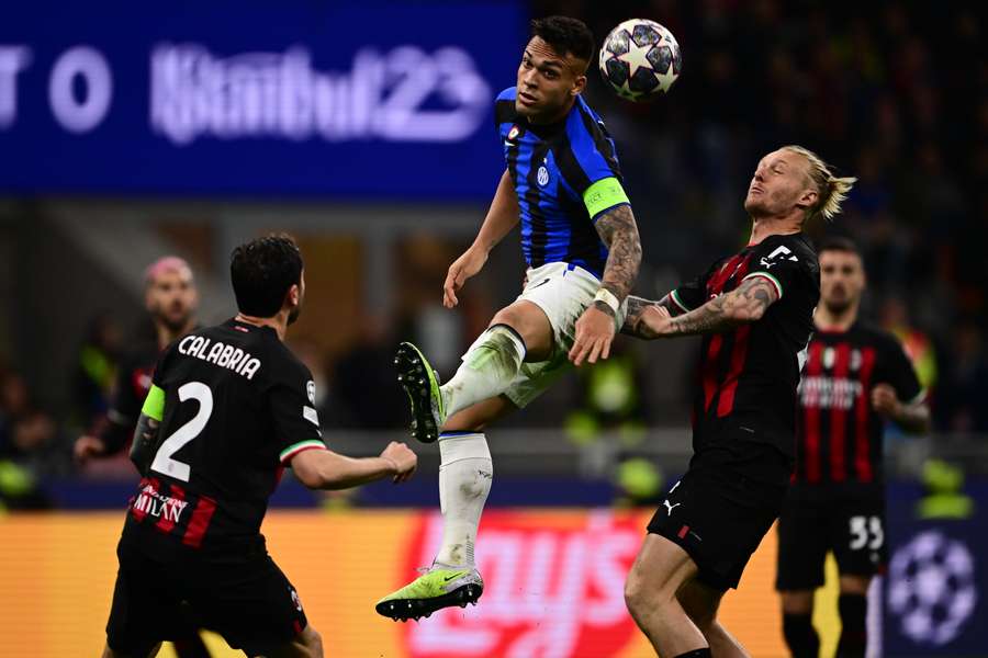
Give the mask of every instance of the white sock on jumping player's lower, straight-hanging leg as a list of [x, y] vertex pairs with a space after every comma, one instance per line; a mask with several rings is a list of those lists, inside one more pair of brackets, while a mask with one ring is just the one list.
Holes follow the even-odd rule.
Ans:
[[494, 476], [487, 439], [480, 432], [441, 435], [439, 454], [442, 546], [435, 561], [453, 567], [473, 567], [476, 527]]

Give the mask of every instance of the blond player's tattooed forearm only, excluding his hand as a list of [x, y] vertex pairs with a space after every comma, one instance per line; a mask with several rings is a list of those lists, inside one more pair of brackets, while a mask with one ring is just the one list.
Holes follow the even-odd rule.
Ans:
[[717, 296], [699, 308], [673, 318], [670, 336], [720, 333], [753, 322], [775, 300], [775, 287], [762, 276], [748, 279], [738, 288]]

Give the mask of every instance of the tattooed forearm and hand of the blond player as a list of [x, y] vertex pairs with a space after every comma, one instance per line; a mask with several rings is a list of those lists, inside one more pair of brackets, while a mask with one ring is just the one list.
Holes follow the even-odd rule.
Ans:
[[674, 317], [667, 306], [641, 305], [641, 313], [633, 322], [626, 320], [622, 330], [644, 339], [721, 333], [756, 322], [777, 300], [778, 290], [767, 279], [752, 276], [730, 293], [680, 316]]

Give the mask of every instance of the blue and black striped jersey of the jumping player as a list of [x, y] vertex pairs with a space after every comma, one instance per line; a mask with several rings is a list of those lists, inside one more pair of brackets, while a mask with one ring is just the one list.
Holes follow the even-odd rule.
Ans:
[[576, 97], [560, 122], [532, 125], [515, 110], [516, 88], [498, 94], [495, 122], [521, 211], [521, 250], [530, 268], [552, 262], [580, 265], [602, 276], [607, 247], [583, 195], [594, 183], [621, 178], [614, 139], [604, 122]]

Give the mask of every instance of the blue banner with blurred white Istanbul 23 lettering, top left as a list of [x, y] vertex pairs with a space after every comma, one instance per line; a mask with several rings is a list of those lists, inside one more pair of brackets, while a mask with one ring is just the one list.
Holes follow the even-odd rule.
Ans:
[[520, 2], [12, 3], [0, 193], [490, 196]]

